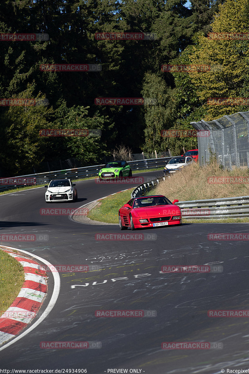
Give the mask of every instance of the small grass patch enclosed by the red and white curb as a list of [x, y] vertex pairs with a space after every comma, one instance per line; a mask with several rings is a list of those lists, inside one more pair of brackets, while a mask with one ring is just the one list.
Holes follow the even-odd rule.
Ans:
[[24, 268], [0, 247], [0, 315], [13, 303], [24, 283]]

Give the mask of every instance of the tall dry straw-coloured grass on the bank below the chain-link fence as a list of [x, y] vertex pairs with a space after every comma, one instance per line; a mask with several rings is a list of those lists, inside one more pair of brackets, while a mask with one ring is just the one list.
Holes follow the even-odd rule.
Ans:
[[173, 175], [171, 174], [169, 178], [165, 178], [165, 181], [162, 181], [153, 190], [153, 194], [162, 194], [171, 201], [174, 199], [186, 201], [249, 195], [249, 184], [209, 184], [208, 177], [248, 177], [249, 181], [249, 170], [247, 168], [236, 168], [232, 171], [222, 170], [216, 163], [201, 168], [198, 163], [194, 163]]

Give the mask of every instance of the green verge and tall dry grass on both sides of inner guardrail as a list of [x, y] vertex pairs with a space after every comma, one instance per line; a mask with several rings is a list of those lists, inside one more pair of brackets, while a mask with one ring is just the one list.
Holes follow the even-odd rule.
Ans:
[[[157, 169], [158, 170], [158, 169]], [[249, 185], [241, 184], [210, 184], [208, 177], [248, 177], [247, 168], [236, 168], [232, 171], [223, 170], [215, 163], [201, 168], [199, 164], [183, 168], [170, 178], [165, 178], [149, 194], [162, 194], [173, 201], [215, 199], [221, 197], [249, 196]], [[88, 214], [88, 218], [95, 221], [118, 223], [118, 209], [127, 203], [133, 188], [128, 191], [115, 194], [100, 201], [96, 208]], [[184, 219], [183, 223], [248, 223], [247, 218], [222, 218], [222, 219]]]

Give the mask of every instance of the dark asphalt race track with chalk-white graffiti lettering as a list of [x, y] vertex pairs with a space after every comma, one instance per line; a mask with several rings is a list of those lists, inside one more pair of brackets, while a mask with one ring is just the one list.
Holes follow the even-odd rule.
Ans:
[[[0, 196], [0, 234], [49, 235], [47, 242], [2, 245], [24, 249], [53, 265], [100, 267], [85, 273], [59, 273], [60, 292], [52, 311], [27, 335], [0, 349], [1, 369], [215, 374], [222, 369], [227, 373], [227, 369], [249, 368], [249, 319], [210, 318], [207, 314], [210, 309], [248, 309], [248, 241], [208, 240], [208, 233], [248, 233], [248, 224], [183, 224], [121, 232], [115, 225], [92, 226], [67, 216], [40, 215], [41, 208], [77, 208], [132, 186], [78, 182], [78, 202], [66, 204], [46, 204], [44, 187]], [[156, 234], [156, 240], [95, 240], [95, 234], [102, 233]], [[161, 266], [203, 264], [221, 265], [224, 270], [160, 273]], [[53, 292], [51, 273], [48, 286], [40, 312]], [[99, 318], [96, 310], [153, 310], [156, 316]], [[102, 347], [41, 349], [44, 341], [94, 341]], [[161, 349], [162, 342], [194, 341], [220, 342], [223, 348]], [[111, 371], [114, 369], [117, 371]]]

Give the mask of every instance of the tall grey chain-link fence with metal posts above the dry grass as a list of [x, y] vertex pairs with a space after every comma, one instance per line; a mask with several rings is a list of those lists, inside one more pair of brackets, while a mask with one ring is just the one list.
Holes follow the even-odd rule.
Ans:
[[249, 112], [191, 124], [198, 131], [200, 165], [205, 165], [216, 154], [219, 164], [226, 169], [249, 168]]

